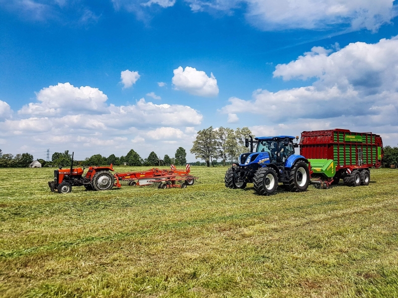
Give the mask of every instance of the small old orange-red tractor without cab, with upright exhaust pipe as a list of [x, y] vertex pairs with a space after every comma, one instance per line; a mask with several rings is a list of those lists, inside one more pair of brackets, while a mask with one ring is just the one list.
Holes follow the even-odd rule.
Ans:
[[110, 173], [114, 171], [110, 166], [91, 166], [86, 175], [83, 175], [84, 168], [73, 168], [73, 153], [70, 169], [54, 171], [54, 181], [49, 181], [48, 186], [52, 192], [69, 193], [72, 186], [84, 186], [87, 190], [108, 190], [113, 187], [114, 177]]

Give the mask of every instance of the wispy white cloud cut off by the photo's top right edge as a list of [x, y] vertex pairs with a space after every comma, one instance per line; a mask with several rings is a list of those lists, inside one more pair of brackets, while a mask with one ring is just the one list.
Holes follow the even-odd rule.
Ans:
[[186, 0], [194, 11], [231, 12], [245, 7], [246, 19], [264, 30], [325, 29], [344, 24], [375, 31], [397, 16], [394, 0]]

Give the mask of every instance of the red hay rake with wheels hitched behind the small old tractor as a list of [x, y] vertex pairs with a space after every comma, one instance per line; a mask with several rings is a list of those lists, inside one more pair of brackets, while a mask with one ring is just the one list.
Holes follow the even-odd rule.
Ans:
[[[178, 170], [172, 164], [170, 169], [158, 169], [152, 168], [147, 171], [140, 172], [125, 172], [125, 173], [115, 173], [115, 184], [116, 187], [121, 187], [121, 181], [129, 181], [130, 185], [145, 186], [151, 185], [155, 182], [170, 182], [170, 185], [176, 185], [177, 181], [187, 181], [198, 179], [190, 175], [191, 168], [187, 164], [185, 170]], [[170, 186], [179, 187], [179, 186]]]

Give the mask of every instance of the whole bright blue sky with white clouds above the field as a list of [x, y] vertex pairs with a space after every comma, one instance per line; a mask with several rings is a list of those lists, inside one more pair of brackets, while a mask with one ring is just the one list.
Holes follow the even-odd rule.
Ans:
[[173, 155], [210, 125], [397, 145], [397, 5], [0, 0], [0, 149]]

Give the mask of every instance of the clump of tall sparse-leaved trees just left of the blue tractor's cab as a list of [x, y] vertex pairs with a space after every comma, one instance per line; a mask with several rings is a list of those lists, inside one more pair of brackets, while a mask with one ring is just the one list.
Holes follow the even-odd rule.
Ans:
[[255, 137], [248, 127], [231, 128], [219, 127], [200, 130], [194, 141], [191, 153], [195, 154], [195, 158], [205, 161], [207, 166], [214, 165], [213, 160], [222, 160], [222, 164], [229, 160], [237, 161], [239, 155], [247, 152], [245, 147], [245, 139], [249, 136]]

